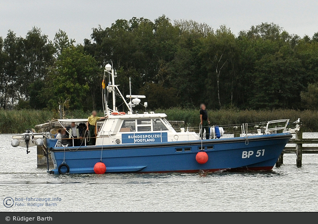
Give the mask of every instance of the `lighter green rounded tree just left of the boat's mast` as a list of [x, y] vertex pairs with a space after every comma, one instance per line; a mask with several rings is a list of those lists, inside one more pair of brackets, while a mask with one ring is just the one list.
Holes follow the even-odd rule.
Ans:
[[70, 46], [50, 68], [42, 96], [51, 109], [57, 109], [59, 102], [67, 99], [69, 109], [92, 109], [96, 106], [93, 92], [98, 91], [96, 83], [101, 88], [101, 81], [101, 71], [94, 58], [86, 55], [81, 45]]

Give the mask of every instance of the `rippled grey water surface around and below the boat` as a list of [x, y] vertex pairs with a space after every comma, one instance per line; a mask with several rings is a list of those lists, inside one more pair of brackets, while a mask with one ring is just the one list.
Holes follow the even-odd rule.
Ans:
[[[303, 155], [301, 168], [287, 154], [280, 168], [267, 173], [58, 176], [36, 168], [35, 148], [27, 155], [10, 141], [11, 135], [0, 135], [0, 211], [318, 211], [314, 154]], [[61, 201], [6, 208], [6, 197]]]

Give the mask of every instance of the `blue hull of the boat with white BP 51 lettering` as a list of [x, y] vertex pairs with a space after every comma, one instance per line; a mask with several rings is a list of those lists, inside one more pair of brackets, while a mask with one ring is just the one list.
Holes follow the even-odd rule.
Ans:
[[[272, 170], [290, 138], [290, 134], [282, 133], [203, 140], [203, 150], [200, 140], [65, 149], [52, 147], [55, 169], [50, 173], [59, 174], [58, 167], [62, 163], [69, 166], [70, 174], [94, 173], [93, 167], [100, 158], [107, 167], [106, 173], [266, 171]], [[196, 154], [200, 151], [208, 155], [204, 164], [196, 161]]]

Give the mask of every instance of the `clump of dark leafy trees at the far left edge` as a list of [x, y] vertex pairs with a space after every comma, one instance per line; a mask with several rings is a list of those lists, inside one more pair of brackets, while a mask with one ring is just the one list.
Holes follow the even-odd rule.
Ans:
[[[43, 82], [49, 66], [54, 63], [55, 48], [36, 27], [27, 33], [26, 38], [16, 37], [13, 31], [9, 31], [0, 46], [0, 105], [12, 108], [19, 101], [28, 101], [31, 91], [38, 95], [38, 92], [34, 93], [32, 83]], [[32, 106], [41, 107], [34, 100]]]

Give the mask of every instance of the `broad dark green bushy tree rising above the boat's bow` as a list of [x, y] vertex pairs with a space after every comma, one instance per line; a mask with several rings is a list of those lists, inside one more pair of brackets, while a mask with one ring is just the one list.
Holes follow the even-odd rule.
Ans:
[[252, 108], [299, 108], [304, 71], [301, 61], [289, 55], [267, 54], [256, 63]]

